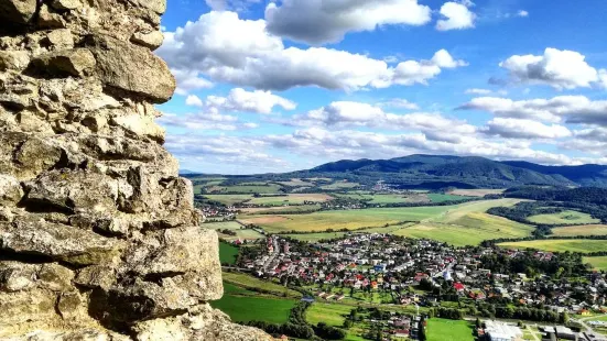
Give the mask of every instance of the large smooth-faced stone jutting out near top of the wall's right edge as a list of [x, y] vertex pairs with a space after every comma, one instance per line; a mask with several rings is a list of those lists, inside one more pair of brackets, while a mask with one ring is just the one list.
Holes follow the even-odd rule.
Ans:
[[155, 103], [173, 96], [175, 78], [150, 50], [99, 35], [89, 37], [88, 44], [97, 58], [99, 78], [107, 86]]

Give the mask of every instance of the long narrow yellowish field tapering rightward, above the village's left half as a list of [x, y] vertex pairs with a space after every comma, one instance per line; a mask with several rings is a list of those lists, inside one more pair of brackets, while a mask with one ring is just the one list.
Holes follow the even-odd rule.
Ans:
[[289, 231], [326, 231], [327, 229], [377, 228], [401, 221], [421, 221], [440, 216], [454, 207], [407, 207], [407, 208], [373, 208], [362, 210], [321, 211], [294, 216], [249, 216], [240, 217], [243, 223], [254, 223], [268, 232]]

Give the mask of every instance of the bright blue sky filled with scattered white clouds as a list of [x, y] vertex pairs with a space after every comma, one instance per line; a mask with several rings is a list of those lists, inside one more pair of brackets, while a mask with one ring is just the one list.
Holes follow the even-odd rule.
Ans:
[[182, 168], [413, 153], [607, 164], [604, 0], [169, 0]]

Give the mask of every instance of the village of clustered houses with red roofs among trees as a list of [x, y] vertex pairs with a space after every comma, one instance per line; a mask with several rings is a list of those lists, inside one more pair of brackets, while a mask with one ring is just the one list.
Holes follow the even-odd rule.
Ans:
[[[576, 316], [606, 312], [605, 275], [578, 273], [566, 255], [454, 248], [381, 233], [349, 233], [311, 244], [271, 235], [261, 241], [260, 250], [239, 266], [257, 277], [303, 288], [307, 300], [415, 309], [410, 317], [392, 316], [383, 321], [394, 337], [415, 339], [422, 309], [430, 317], [480, 317], [486, 322], [478, 326], [477, 333], [487, 340], [522, 340], [520, 326], [511, 322], [516, 320], [544, 326], [538, 340], [551, 340], [551, 334], [554, 340], [605, 340], [592, 326], [575, 320]], [[511, 260], [512, 268], [496, 271], [496, 260], [499, 264]], [[514, 272], [520, 264], [527, 268]], [[555, 273], [545, 271], [554, 266]], [[565, 275], [565, 267], [573, 273]], [[369, 322], [381, 324], [377, 319]]]

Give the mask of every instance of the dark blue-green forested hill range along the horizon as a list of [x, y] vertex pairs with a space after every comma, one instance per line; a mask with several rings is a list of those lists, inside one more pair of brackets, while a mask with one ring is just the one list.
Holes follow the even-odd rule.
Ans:
[[528, 162], [497, 162], [484, 157], [410, 155], [391, 160], [338, 161], [302, 172], [300, 176], [344, 176], [364, 183], [388, 183], [425, 187], [512, 187], [520, 185], [607, 187], [607, 166], [542, 166]]

